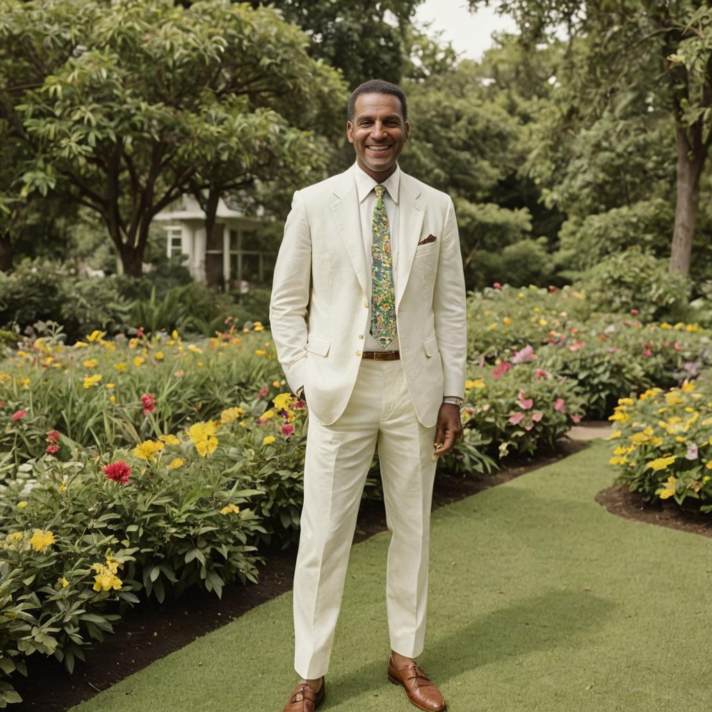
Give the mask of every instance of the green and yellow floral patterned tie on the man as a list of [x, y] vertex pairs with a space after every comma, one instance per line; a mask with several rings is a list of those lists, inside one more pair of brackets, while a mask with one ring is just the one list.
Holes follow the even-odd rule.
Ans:
[[383, 204], [384, 187], [377, 185], [376, 207], [371, 228], [371, 333], [382, 347], [387, 347], [396, 335], [395, 292], [393, 289], [393, 255], [388, 232], [388, 216]]

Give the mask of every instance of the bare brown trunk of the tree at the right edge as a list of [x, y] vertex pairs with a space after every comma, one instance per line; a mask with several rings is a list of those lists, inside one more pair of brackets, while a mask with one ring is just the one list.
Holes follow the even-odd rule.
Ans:
[[[685, 127], [676, 128], [677, 197], [675, 228], [670, 252], [670, 270], [687, 274], [690, 271], [692, 240], [695, 235], [700, 176], [705, 162], [705, 149], [690, 150]], [[697, 143], [697, 142], [695, 142]], [[691, 155], [690, 155], [691, 153]]]

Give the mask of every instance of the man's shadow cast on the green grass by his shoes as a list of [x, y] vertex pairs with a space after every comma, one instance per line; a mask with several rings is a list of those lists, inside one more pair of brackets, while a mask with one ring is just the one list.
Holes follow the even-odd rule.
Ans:
[[[599, 627], [612, 607], [614, 602], [590, 592], [550, 590], [486, 617], [461, 621], [456, 629], [430, 639], [419, 662], [436, 684], [493, 663], [516, 664], [521, 656], [571, 643], [588, 629]], [[330, 676], [333, 701], [382, 687], [386, 658], [354, 664], [348, 673]]]

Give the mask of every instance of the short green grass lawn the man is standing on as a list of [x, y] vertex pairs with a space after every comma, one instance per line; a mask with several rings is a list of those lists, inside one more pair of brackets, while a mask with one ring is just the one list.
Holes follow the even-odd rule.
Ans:
[[[608, 458], [597, 441], [433, 514], [419, 662], [449, 710], [712, 708], [712, 542], [604, 511]], [[386, 679], [388, 539], [352, 550], [320, 709], [414, 709]], [[281, 712], [296, 681], [291, 605], [263, 604], [73, 709]]]

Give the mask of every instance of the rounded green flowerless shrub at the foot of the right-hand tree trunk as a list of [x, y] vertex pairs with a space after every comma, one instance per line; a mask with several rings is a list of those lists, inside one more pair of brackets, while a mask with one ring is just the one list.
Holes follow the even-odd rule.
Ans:
[[644, 320], [684, 317], [689, 302], [689, 278], [669, 271], [666, 261], [637, 248], [608, 256], [582, 274], [575, 287], [600, 312], [637, 309]]

